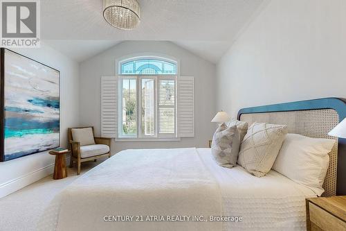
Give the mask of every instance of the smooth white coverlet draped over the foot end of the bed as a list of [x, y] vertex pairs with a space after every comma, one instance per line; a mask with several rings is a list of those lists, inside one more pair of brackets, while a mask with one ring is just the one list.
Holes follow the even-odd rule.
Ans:
[[221, 223], [208, 222], [104, 222], [104, 216], [167, 219], [221, 212], [219, 186], [196, 148], [127, 150], [66, 187], [39, 230], [221, 230]]

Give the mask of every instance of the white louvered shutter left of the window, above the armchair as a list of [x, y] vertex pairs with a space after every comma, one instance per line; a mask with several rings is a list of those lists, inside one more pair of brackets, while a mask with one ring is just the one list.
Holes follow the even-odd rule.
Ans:
[[118, 135], [118, 78], [101, 77], [101, 136]]

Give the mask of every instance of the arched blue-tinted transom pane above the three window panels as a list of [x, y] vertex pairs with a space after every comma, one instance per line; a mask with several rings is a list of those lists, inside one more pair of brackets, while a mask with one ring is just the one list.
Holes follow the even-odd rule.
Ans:
[[122, 75], [176, 75], [176, 62], [163, 58], [136, 58], [120, 62]]

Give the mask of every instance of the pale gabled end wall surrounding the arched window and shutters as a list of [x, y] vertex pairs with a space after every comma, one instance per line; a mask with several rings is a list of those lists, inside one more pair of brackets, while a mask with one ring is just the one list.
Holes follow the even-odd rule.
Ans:
[[215, 73], [211, 62], [176, 46], [172, 42], [131, 41], [122, 42], [80, 64], [80, 123], [94, 126], [100, 135], [100, 78], [116, 75], [116, 59], [136, 53], [161, 53], [180, 60], [181, 76], [194, 76], [196, 85], [196, 135], [180, 142], [116, 142], [112, 151], [127, 148], [176, 148], [206, 147], [212, 137], [215, 124], [210, 120], [215, 115]]

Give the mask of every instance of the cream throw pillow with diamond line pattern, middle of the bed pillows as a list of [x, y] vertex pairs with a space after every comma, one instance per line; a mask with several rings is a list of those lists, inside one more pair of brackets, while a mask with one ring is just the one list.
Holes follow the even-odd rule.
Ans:
[[287, 126], [253, 123], [240, 146], [238, 164], [254, 176], [265, 176], [271, 170], [287, 132]]

